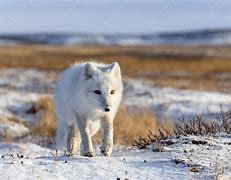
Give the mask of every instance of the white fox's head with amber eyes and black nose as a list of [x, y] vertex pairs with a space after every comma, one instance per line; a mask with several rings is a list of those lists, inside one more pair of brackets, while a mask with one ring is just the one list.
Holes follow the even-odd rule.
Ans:
[[104, 112], [116, 112], [122, 96], [119, 64], [86, 63], [84, 78], [84, 91], [91, 107]]

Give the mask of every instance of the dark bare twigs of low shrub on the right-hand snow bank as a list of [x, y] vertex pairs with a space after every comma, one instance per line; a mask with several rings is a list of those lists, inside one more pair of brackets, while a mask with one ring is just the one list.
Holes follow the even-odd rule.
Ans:
[[[173, 125], [173, 130], [169, 132], [165, 128], [159, 128], [159, 133], [149, 131], [146, 136], [140, 136], [135, 140], [133, 146], [138, 149], [145, 149], [153, 143], [163, 144], [166, 139], [187, 135], [195, 136], [213, 136], [219, 133], [231, 134], [231, 111], [224, 112], [220, 106], [220, 113], [214, 116], [213, 120], [208, 120], [205, 116], [195, 115], [193, 117], [184, 117], [178, 119]], [[168, 142], [168, 141], [167, 141]], [[206, 144], [206, 141], [193, 140], [192, 144]], [[167, 144], [171, 145], [171, 144]]]

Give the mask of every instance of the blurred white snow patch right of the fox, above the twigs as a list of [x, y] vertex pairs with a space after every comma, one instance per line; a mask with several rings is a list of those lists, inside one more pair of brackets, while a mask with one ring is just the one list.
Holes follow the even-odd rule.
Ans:
[[126, 105], [149, 107], [160, 119], [216, 114], [220, 105], [224, 111], [231, 110], [231, 94], [156, 87], [141, 81], [126, 81], [124, 85]]

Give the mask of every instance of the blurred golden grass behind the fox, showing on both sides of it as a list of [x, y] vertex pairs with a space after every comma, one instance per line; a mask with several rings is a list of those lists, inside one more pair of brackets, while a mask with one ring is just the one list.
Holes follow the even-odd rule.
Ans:
[[[40, 124], [32, 128], [32, 134], [53, 137], [56, 131], [56, 118], [54, 113], [53, 101], [50, 97], [44, 97], [34, 103], [28, 113], [40, 113]], [[160, 124], [155, 119], [154, 114], [148, 110], [128, 111], [122, 105], [114, 120], [114, 143], [131, 145], [139, 136], [145, 137], [149, 131], [159, 133], [159, 129], [166, 127], [172, 132], [170, 123]], [[94, 136], [94, 142], [101, 142], [101, 132]]]

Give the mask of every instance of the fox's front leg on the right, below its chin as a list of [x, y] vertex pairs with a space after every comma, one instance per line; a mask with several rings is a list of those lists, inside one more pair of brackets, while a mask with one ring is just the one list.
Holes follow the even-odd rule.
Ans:
[[101, 121], [103, 128], [103, 141], [100, 147], [104, 156], [110, 156], [113, 148], [113, 120], [106, 118]]

